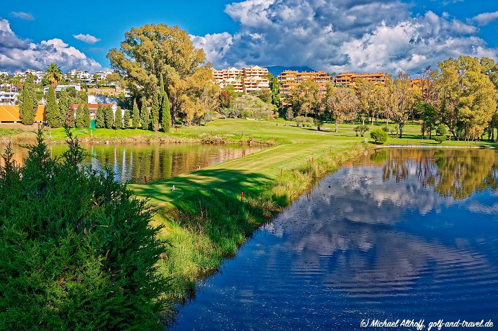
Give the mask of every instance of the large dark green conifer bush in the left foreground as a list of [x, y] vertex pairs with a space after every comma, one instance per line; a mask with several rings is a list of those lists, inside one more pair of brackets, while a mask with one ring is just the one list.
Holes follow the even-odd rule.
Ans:
[[22, 167], [3, 155], [0, 330], [161, 330], [153, 212], [66, 133], [60, 159], [41, 128]]

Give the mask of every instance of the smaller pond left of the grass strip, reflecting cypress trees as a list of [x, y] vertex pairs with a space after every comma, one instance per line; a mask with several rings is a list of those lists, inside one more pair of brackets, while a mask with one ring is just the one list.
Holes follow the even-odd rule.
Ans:
[[[260, 146], [238, 144], [82, 144], [88, 152], [87, 163], [94, 169], [110, 167], [122, 183], [143, 184], [192, 172], [199, 167], [249, 155], [259, 151]], [[52, 156], [61, 155], [64, 144], [48, 146]], [[14, 159], [22, 164], [27, 149], [12, 145]], [[3, 160], [0, 160], [3, 165]]]

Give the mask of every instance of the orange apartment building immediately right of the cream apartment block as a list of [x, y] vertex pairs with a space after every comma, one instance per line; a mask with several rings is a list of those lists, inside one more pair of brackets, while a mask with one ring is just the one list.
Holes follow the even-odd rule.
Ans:
[[280, 97], [283, 99], [289, 95], [289, 91], [303, 81], [315, 81], [318, 83], [320, 95], [323, 97], [327, 92], [327, 83], [330, 82], [330, 75], [325, 71], [297, 71], [284, 70], [277, 76], [280, 86]]

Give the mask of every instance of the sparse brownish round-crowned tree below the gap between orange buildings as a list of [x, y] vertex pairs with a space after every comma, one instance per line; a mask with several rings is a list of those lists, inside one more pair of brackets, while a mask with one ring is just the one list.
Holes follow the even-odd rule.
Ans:
[[349, 88], [336, 88], [330, 85], [325, 97], [325, 103], [335, 117], [336, 132], [338, 131], [339, 123], [355, 119], [360, 106], [358, 98]]

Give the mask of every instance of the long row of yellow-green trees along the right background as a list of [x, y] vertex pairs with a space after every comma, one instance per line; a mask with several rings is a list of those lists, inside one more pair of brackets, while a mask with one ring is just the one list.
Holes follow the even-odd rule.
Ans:
[[[350, 87], [329, 83], [323, 95], [314, 81], [304, 81], [289, 91], [287, 119], [313, 115], [338, 124], [359, 119], [396, 124], [397, 135], [411, 120], [421, 124], [422, 138], [431, 138], [441, 124], [448, 128], [449, 139], [494, 139], [498, 126], [498, 65], [493, 59], [470, 56], [450, 58], [432, 70], [425, 68], [420, 84], [413, 85], [408, 74], [385, 74], [385, 84], [357, 79]], [[498, 138], [498, 136], [497, 136]]]

